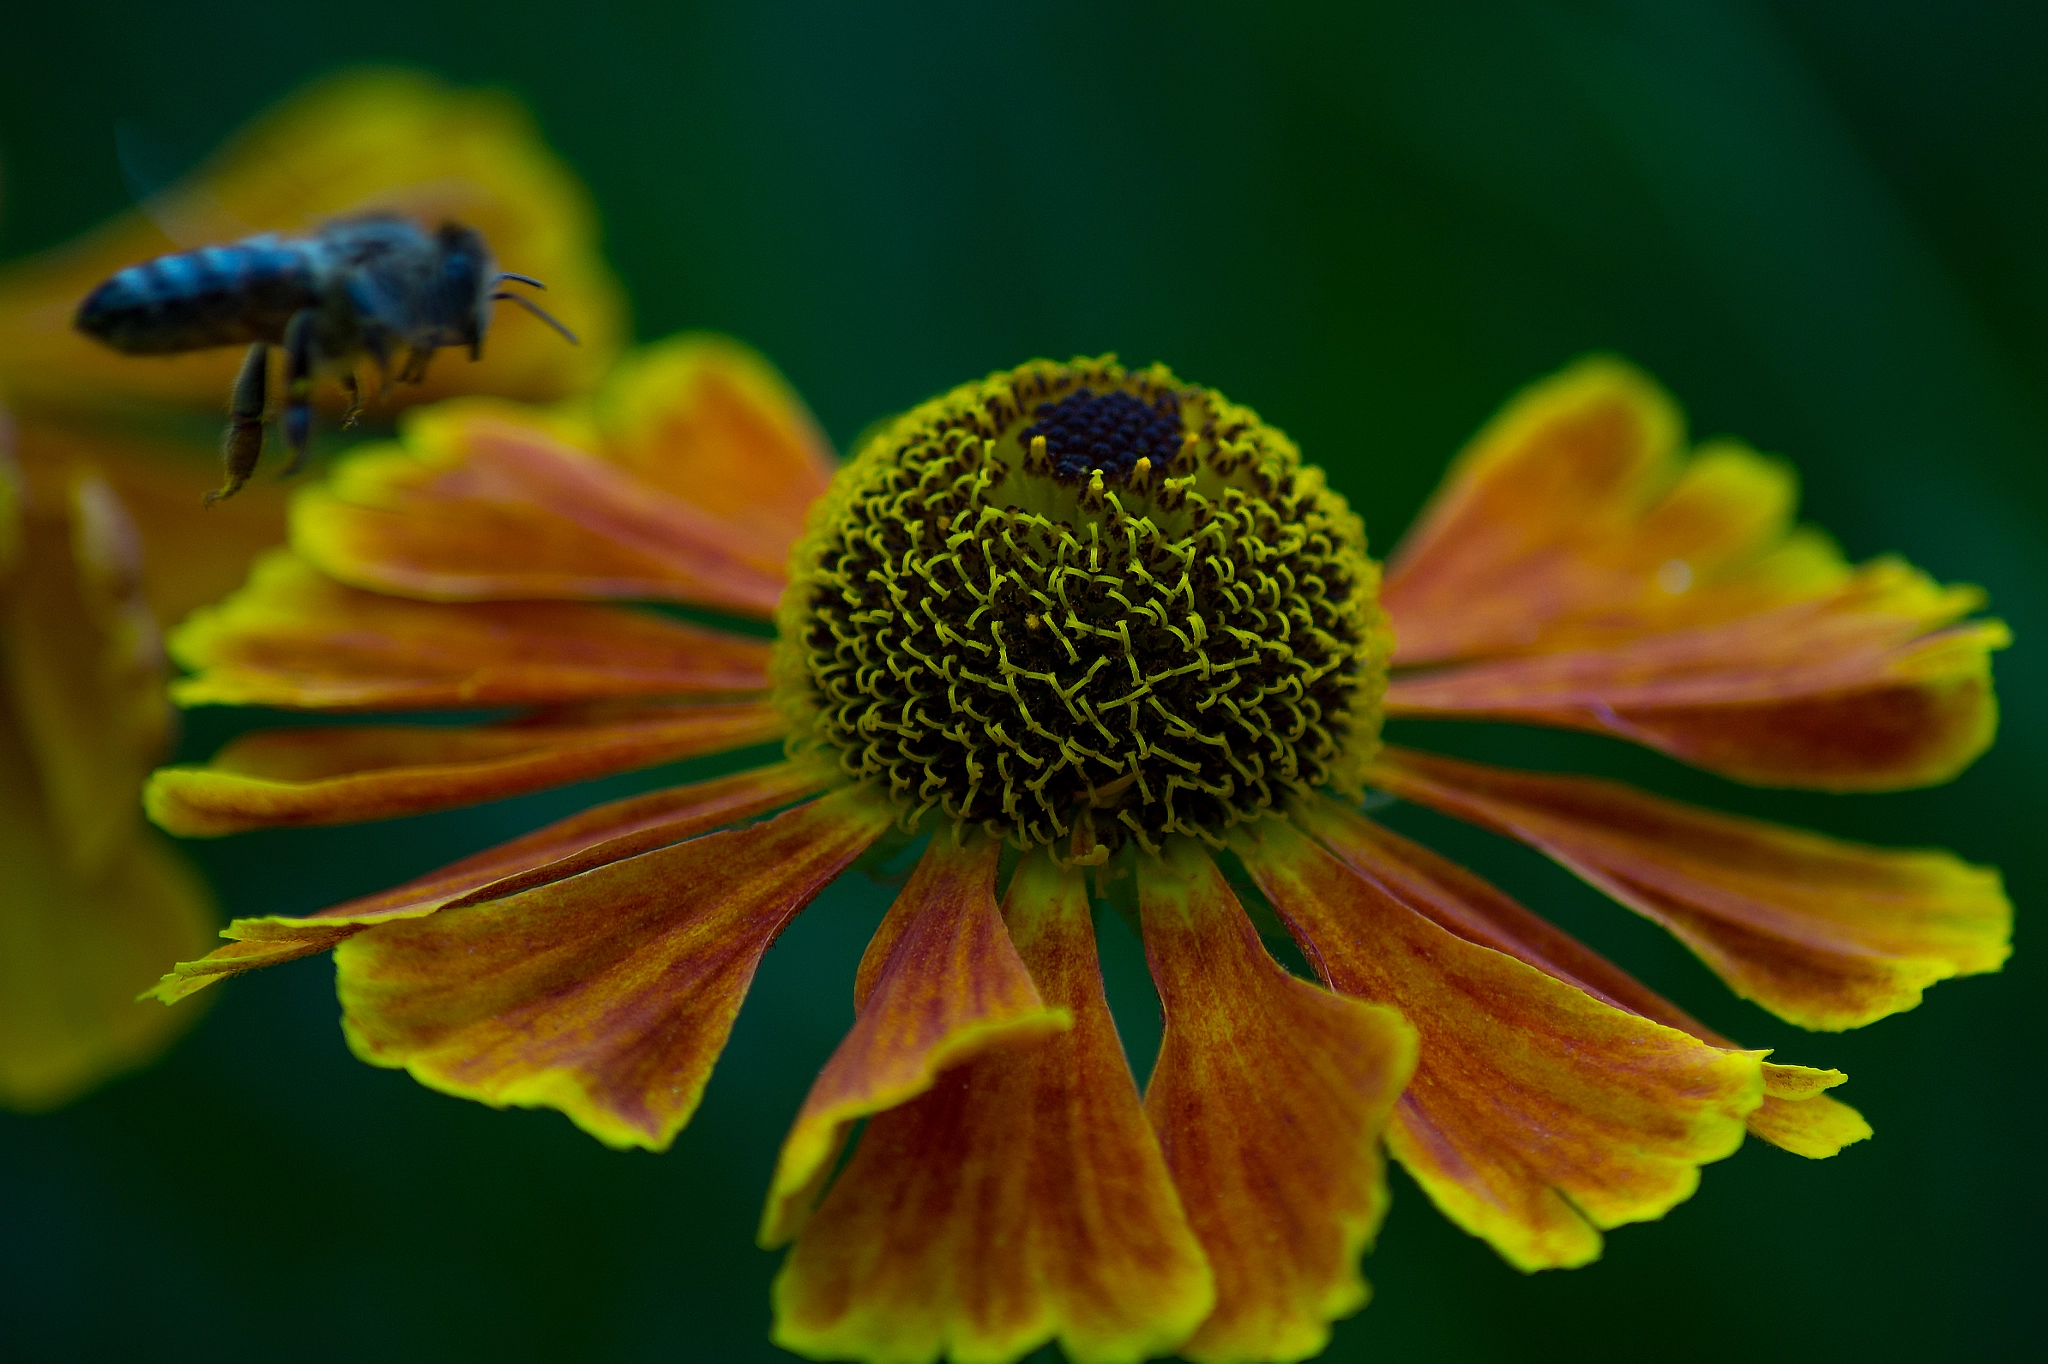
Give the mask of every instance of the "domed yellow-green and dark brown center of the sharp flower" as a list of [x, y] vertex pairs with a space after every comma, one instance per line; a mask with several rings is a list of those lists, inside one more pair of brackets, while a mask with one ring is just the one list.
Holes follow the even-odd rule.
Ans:
[[1161, 367], [1038, 360], [840, 471], [791, 563], [776, 690], [797, 743], [905, 823], [1219, 842], [1358, 786], [1376, 594], [1358, 518], [1253, 412]]

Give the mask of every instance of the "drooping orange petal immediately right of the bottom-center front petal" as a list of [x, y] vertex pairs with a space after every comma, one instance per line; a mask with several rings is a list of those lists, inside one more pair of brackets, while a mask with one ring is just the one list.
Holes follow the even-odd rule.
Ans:
[[1217, 1276], [1182, 1354], [1305, 1360], [1366, 1305], [1358, 1258], [1386, 1214], [1380, 1135], [1415, 1030], [1282, 971], [1192, 840], [1137, 877], [1165, 1010], [1145, 1112]]

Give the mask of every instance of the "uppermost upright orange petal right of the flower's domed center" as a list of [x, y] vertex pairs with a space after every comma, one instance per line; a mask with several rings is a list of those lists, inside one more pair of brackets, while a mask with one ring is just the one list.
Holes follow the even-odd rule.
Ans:
[[1683, 449], [1640, 371], [1593, 356], [1530, 385], [1452, 463], [1380, 600], [1403, 666], [1583, 649], [1825, 594], [1849, 569], [1796, 528], [1792, 469]]

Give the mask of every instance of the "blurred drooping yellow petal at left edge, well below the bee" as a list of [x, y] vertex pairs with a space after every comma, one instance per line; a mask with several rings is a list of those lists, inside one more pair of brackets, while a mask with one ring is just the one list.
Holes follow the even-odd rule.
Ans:
[[0, 1106], [63, 1104], [190, 1024], [135, 1006], [213, 905], [135, 803], [166, 711], [133, 549], [104, 483], [31, 489], [0, 444]]

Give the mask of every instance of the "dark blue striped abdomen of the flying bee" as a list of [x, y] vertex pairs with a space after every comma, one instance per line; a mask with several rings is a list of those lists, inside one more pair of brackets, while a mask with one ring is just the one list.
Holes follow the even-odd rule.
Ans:
[[279, 342], [317, 301], [309, 252], [279, 238], [158, 256], [86, 295], [78, 330], [129, 354]]

